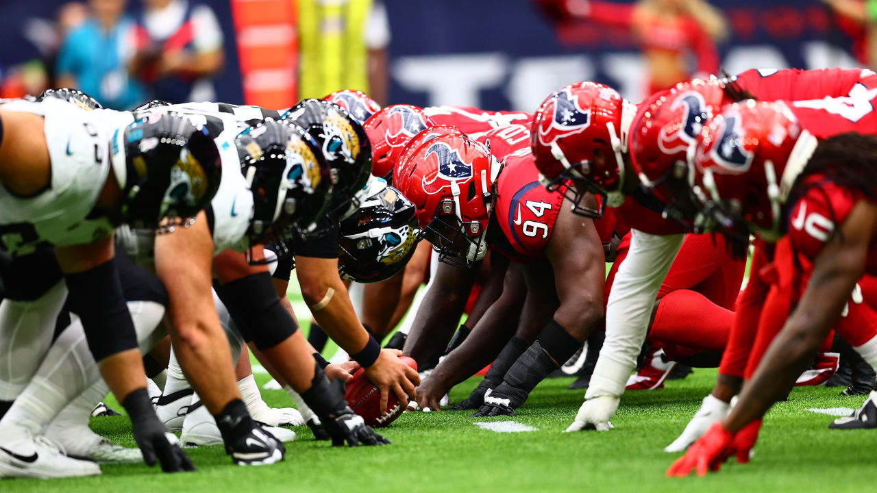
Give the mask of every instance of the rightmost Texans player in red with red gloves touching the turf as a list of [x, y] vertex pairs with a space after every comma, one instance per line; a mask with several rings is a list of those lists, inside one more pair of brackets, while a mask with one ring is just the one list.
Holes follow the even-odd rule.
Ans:
[[[773, 339], [727, 418], [714, 423], [667, 475], [718, 470], [731, 455], [749, 460], [761, 418], [788, 391], [842, 315], [838, 332], [877, 367], [877, 323], [857, 282], [873, 275], [873, 162], [877, 119], [872, 91], [789, 104], [746, 102], [727, 108], [702, 133], [693, 156], [695, 184], [724, 225], [774, 241], [779, 281], [766, 298], [758, 338]], [[850, 132], [858, 130], [858, 132]], [[846, 133], [844, 133], [846, 132]], [[743, 198], [745, 196], [745, 199]], [[852, 293], [852, 297], [850, 295]], [[851, 303], [852, 302], [852, 303]], [[771, 325], [782, 325], [773, 338]], [[766, 319], [767, 317], [767, 319]], [[766, 331], [766, 332], [765, 332]], [[758, 344], [758, 343], [757, 343]], [[873, 427], [872, 392], [838, 428]]]

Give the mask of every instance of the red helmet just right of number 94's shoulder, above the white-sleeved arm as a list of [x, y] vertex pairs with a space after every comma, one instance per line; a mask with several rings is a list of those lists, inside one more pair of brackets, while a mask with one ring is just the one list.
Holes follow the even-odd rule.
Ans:
[[[575, 82], [548, 96], [531, 125], [533, 159], [545, 188], [560, 188], [581, 216], [600, 218], [603, 204], [621, 205], [627, 131], [635, 112], [617, 90], [596, 82]], [[567, 180], [576, 187], [560, 187]], [[580, 204], [585, 192], [602, 196], [597, 210]]]

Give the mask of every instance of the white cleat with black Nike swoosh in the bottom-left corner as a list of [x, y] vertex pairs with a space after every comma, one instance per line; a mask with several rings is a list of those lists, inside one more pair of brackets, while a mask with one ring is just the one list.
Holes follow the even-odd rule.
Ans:
[[92, 461], [80, 461], [45, 437], [16, 425], [0, 426], [0, 477], [75, 477], [99, 475], [101, 468]]

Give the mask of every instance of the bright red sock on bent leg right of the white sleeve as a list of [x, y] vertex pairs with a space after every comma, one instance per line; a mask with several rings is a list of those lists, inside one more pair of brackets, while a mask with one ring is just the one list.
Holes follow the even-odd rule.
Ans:
[[723, 351], [734, 312], [695, 291], [679, 289], [662, 297], [649, 337], [706, 351]]

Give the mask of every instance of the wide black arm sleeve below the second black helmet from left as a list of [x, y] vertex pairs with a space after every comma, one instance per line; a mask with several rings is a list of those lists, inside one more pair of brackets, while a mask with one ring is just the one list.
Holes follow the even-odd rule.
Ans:
[[281, 304], [267, 272], [225, 283], [218, 287], [217, 295], [244, 339], [252, 340], [260, 351], [277, 346], [298, 330], [296, 320]]

